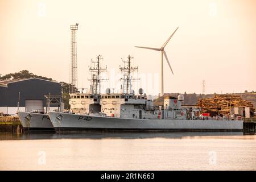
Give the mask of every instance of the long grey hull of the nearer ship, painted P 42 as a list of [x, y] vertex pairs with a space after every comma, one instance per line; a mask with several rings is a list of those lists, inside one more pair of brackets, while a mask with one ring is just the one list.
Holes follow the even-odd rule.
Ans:
[[133, 119], [50, 112], [55, 131], [242, 131], [242, 121]]

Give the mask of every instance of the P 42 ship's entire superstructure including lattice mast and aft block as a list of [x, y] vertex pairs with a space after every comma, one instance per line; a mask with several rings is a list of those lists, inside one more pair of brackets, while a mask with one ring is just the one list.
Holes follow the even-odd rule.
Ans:
[[101, 112], [109, 117], [134, 118], [134, 119], [185, 119], [186, 110], [181, 107], [184, 100], [180, 95], [178, 98], [166, 97], [164, 99], [164, 108], [154, 106], [152, 100], [143, 94], [143, 89], [139, 89], [139, 94], [134, 94], [131, 81], [138, 80], [132, 78], [131, 73], [138, 71], [138, 67], [131, 65], [130, 55], [127, 61], [123, 61], [123, 67], [120, 71], [123, 73], [121, 81], [123, 88], [121, 93], [110, 93], [110, 89], [106, 89], [106, 94], [101, 94]]

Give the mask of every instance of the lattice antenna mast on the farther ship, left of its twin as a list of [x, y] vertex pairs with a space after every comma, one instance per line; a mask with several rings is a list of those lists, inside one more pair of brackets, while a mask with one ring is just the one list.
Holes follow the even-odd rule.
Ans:
[[91, 82], [90, 93], [92, 94], [101, 93], [101, 81], [108, 80], [101, 78], [101, 73], [105, 72], [107, 69], [107, 67], [101, 67], [101, 61], [103, 60], [103, 57], [101, 55], [98, 55], [96, 58], [96, 61], [91, 60], [92, 65], [89, 67], [89, 71], [91, 72], [92, 76], [88, 80]]

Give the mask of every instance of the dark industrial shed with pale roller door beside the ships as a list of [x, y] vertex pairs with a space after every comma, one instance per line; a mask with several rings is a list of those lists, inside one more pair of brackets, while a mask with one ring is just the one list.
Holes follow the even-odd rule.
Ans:
[[15, 114], [18, 109], [45, 112], [59, 107], [63, 107], [59, 82], [40, 78], [0, 81], [0, 113]]

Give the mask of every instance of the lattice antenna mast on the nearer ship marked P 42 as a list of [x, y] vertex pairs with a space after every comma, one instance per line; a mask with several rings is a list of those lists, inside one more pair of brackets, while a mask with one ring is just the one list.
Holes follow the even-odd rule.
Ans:
[[123, 60], [123, 67], [119, 67], [119, 69], [122, 72], [123, 77], [120, 79], [123, 81], [123, 85], [121, 85], [121, 89], [123, 93], [132, 93], [131, 90], [131, 81], [132, 80], [139, 80], [138, 78], [132, 78], [131, 73], [134, 71], [138, 71], [138, 67], [132, 67], [131, 66], [131, 59], [134, 59], [134, 57], [131, 57], [130, 55], [127, 57], [128, 60]]

